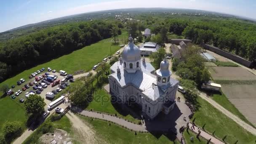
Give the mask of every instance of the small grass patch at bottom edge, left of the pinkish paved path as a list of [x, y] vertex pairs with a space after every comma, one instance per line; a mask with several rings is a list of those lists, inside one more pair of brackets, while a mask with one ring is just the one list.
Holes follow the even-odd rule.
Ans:
[[[194, 137], [194, 141], [190, 141], [190, 137]], [[201, 136], [199, 137], [199, 139], [197, 139], [197, 135], [188, 130], [188, 132], [185, 130], [184, 133], [183, 133], [183, 137], [186, 141], [186, 144], [206, 144], [207, 143], [207, 140], [202, 138]]]

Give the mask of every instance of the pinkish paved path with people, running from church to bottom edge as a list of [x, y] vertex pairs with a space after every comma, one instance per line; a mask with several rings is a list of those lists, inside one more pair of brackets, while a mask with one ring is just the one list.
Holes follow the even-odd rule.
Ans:
[[[192, 127], [192, 123], [189, 123], [189, 129], [191, 129], [192, 131], [194, 131], [195, 133], [198, 133], [198, 128], [197, 126]], [[186, 130], [185, 130], [186, 131]], [[203, 131], [202, 129], [200, 130], [200, 136], [202, 136], [203, 138], [209, 140], [211, 139], [211, 142], [213, 144], [225, 144], [224, 142], [220, 141], [219, 139], [216, 139], [214, 136], [206, 133], [205, 131]]]

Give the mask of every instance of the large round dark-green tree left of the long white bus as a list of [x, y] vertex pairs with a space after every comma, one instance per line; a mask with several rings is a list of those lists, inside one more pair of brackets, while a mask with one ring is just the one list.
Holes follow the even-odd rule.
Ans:
[[24, 102], [24, 106], [27, 113], [32, 113], [33, 115], [40, 115], [44, 111], [45, 101], [41, 96], [30, 95]]

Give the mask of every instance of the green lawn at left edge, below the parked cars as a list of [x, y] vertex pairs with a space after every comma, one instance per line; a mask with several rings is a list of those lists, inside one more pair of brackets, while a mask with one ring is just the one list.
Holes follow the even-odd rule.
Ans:
[[28, 118], [24, 107], [21, 107], [20, 104], [8, 96], [0, 99], [0, 115], [0, 135], [3, 134], [2, 127], [6, 120], [20, 121], [25, 127]]

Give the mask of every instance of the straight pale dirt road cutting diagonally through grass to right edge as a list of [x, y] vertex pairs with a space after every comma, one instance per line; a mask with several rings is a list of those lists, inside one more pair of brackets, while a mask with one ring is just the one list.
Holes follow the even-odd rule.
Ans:
[[243, 120], [241, 120], [239, 117], [237, 117], [236, 115], [232, 114], [232, 113], [229, 112], [227, 109], [225, 109], [224, 107], [222, 107], [221, 105], [219, 105], [216, 101], [214, 101], [213, 99], [207, 97], [205, 93], [200, 93], [199, 96], [200, 96], [201, 98], [203, 98], [205, 101], [208, 101], [211, 105], [213, 105], [213, 107], [215, 107], [216, 109], [218, 109], [219, 111], [221, 111], [224, 115], [226, 115], [227, 117], [229, 117], [229, 118], [231, 118], [232, 120], [234, 120], [238, 125], [240, 125], [241, 127], [243, 127], [245, 130], [251, 132], [253, 135], [256, 136], [256, 129], [253, 128], [251, 125], [248, 125], [248, 124], [245, 123]]

